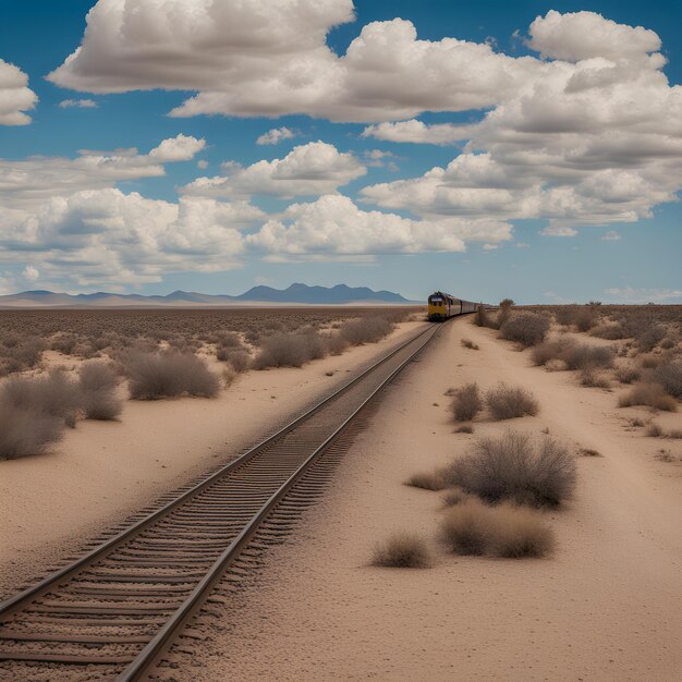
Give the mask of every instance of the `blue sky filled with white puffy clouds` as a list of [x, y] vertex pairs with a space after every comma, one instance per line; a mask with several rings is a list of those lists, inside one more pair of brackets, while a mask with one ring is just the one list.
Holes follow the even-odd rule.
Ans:
[[180, 4], [2, 2], [2, 293], [682, 302], [679, 3]]

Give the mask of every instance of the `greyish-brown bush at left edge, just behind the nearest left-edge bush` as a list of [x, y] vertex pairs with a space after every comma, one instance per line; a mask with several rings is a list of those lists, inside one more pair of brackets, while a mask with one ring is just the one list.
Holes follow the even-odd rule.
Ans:
[[20, 410], [56, 417], [72, 427], [82, 404], [76, 382], [61, 369], [40, 377], [9, 377], [2, 394]]

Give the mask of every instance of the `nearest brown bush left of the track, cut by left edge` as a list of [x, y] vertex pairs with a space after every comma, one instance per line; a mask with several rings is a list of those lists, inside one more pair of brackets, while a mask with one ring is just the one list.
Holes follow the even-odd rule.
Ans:
[[60, 439], [64, 422], [33, 406], [15, 405], [0, 393], [0, 460], [39, 454]]

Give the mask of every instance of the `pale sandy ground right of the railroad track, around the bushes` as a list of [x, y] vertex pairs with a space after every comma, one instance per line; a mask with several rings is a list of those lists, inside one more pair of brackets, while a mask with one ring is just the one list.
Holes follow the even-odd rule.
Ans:
[[[462, 337], [480, 345], [461, 348]], [[587, 340], [585, 338], [584, 340]], [[536, 417], [453, 434], [451, 386], [499, 380], [533, 391]], [[655, 459], [659, 439], [632, 430], [642, 409], [583, 388], [572, 373], [532, 367], [528, 354], [468, 319], [382, 398], [333, 487], [299, 532], [272, 550], [257, 589], [230, 601], [191, 668], [175, 680], [680, 680], [682, 465]], [[437, 403], [437, 404], [434, 404]], [[680, 427], [680, 414], [657, 419]], [[579, 456], [575, 499], [547, 512], [553, 557], [448, 556], [438, 545], [441, 494], [402, 485], [513, 426], [602, 456]], [[682, 454], [682, 443], [666, 447]], [[394, 529], [429, 538], [435, 568], [367, 565]]]

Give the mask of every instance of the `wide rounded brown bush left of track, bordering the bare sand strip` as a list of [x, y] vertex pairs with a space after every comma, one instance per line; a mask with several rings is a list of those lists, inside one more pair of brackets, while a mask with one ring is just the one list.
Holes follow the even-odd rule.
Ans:
[[130, 351], [122, 364], [134, 400], [176, 395], [215, 398], [220, 388], [218, 377], [193, 353]]

